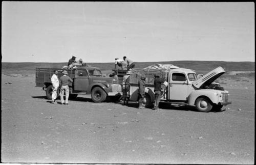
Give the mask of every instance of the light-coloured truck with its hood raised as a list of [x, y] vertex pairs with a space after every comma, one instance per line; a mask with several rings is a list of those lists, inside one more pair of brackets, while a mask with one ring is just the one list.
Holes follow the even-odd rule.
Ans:
[[165, 85], [161, 86], [161, 101], [196, 106], [199, 112], [209, 112], [212, 109], [221, 111], [224, 105], [231, 104], [231, 101], [228, 100], [229, 92], [214, 82], [225, 73], [222, 67], [218, 67], [200, 78], [197, 77], [194, 70], [186, 68], [131, 69], [130, 101], [138, 101], [138, 80], [142, 73], [146, 77], [146, 107], [152, 107], [155, 100], [154, 75], [156, 73], [166, 80]]

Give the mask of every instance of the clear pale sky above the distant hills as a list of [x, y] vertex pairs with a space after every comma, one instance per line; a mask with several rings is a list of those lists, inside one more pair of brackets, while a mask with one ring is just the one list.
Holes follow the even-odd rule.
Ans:
[[2, 62], [255, 61], [253, 2], [2, 1]]

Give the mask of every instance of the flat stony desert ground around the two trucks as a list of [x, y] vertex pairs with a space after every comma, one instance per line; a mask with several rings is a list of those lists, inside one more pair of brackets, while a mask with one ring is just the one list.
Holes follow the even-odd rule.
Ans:
[[225, 73], [218, 82], [232, 101], [221, 112], [166, 103], [155, 112], [83, 95], [70, 105], [51, 104], [34, 73], [2, 72], [1, 160], [254, 164], [254, 73]]

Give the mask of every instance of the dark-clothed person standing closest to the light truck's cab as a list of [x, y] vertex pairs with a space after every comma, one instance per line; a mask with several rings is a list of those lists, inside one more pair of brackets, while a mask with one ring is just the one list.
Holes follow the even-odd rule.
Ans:
[[159, 74], [155, 74], [155, 80], [154, 80], [154, 92], [155, 92], [155, 103], [153, 109], [159, 110], [158, 107], [161, 97], [161, 84], [165, 81], [165, 79], [162, 77], [160, 78]]

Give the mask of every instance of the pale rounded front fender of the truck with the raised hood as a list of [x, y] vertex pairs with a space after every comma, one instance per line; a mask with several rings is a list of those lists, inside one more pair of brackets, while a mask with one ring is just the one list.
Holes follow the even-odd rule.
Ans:
[[221, 94], [218, 90], [211, 89], [201, 89], [192, 91], [187, 98], [189, 105], [195, 105], [197, 98], [199, 97], [207, 97], [212, 103], [218, 104], [218, 96]]

